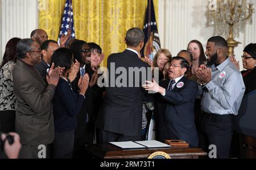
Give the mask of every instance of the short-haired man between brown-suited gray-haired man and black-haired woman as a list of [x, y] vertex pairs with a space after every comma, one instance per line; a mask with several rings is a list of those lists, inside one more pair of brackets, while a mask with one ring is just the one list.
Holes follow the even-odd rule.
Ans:
[[55, 40], [46, 40], [41, 45], [43, 58], [39, 64], [35, 65], [35, 69], [41, 74], [46, 84], [47, 84], [46, 75], [47, 75], [47, 70], [49, 69], [49, 64], [51, 63], [52, 54], [58, 48], [60, 48], [60, 46]]

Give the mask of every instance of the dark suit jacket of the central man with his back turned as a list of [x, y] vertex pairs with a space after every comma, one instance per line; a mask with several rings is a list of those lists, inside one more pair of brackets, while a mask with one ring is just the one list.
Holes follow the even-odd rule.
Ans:
[[[120, 74], [115, 74], [115, 69], [110, 68], [110, 63], [115, 64], [115, 69], [123, 67], [127, 74], [130, 68], [144, 68], [149, 65], [138, 58], [138, 55], [132, 51], [125, 50], [122, 53], [113, 53], [108, 57], [109, 85], [113, 84]], [[113, 65], [112, 65], [113, 67]], [[114, 75], [110, 82], [111, 75]], [[125, 73], [123, 73], [125, 74]], [[127, 75], [126, 74], [126, 75]], [[137, 74], [138, 75], [138, 74]], [[131, 76], [131, 75], [130, 75]], [[134, 84], [134, 78], [122, 78], [120, 80], [127, 85], [129, 82]], [[126, 136], [141, 136], [142, 131], [142, 96], [143, 88], [141, 86], [144, 80], [138, 80], [139, 87], [114, 87], [106, 88], [106, 97], [96, 119], [96, 127], [110, 132], [123, 134]], [[137, 85], [138, 85], [137, 84]]]

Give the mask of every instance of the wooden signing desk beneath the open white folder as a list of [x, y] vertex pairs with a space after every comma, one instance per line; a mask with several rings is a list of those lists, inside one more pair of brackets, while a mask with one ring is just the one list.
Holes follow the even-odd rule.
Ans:
[[171, 158], [199, 158], [207, 155], [201, 148], [193, 147], [170, 147], [170, 148], [143, 148], [122, 150], [112, 144], [90, 145], [87, 148], [90, 155], [96, 158], [104, 159], [131, 159], [131, 158], [147, 158], [156, 151], [166, 152]]

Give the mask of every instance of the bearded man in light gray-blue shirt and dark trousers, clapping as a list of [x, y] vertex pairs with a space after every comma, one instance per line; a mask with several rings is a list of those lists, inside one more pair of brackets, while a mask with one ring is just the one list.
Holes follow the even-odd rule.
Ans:
[[245, 85], [241, 73], [227, 56], [228, 44], [221, 36], [208, 39], [205, 55], [207, 68], [196, 70], [203, 97], [201, 125], [209, 144], [217, 147], [217, 158], [228, 158], [235, 127], [235, 117], [241, 105]]

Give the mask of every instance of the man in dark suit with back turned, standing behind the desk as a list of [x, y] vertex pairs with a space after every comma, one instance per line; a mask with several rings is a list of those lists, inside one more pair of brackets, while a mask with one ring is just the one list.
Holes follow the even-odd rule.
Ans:
[[[144, 45], [143, 31], [130, 28], [126, 32], [125, 42], [125, 51], [108, 57], [108, 87], [96, 120], [96, 127], [101, 130], [101, 143], [141, 140], [142, 83], [146, 78], [144, 81], [142, 79], [146, 77], [147, 67], [150, 67], [139, 59]], [[136, 68], [140, 70], [138, 73]], [[129, 69], [134, 69], [135, 74], [129, 74]], [[134, 78], [138, 74], [140, 78]]]

